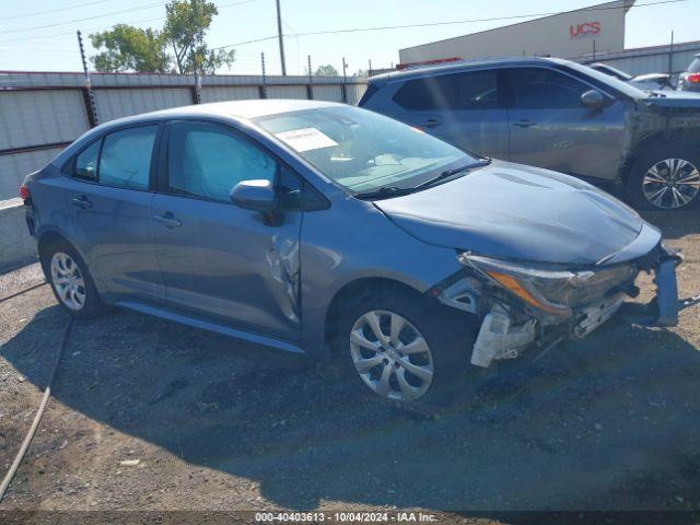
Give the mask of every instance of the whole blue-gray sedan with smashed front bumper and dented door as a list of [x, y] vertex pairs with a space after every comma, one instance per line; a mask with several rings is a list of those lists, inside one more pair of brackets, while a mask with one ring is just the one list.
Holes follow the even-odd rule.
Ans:
[[21, 195], [69, 314], [116, 305], [335, 358], [375, 398], [411, 406], [590, 334], [640, 271], [658, 287], [641, 315], [677, 322], [678, 257], [622, 202], [347, 105], [115, 120]]

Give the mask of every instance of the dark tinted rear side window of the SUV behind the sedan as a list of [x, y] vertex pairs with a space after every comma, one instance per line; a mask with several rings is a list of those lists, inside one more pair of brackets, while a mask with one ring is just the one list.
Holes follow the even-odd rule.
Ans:
[[498, 71], [409, 80], [394, 95], [406, 109], [491, 109], [499, 106]]

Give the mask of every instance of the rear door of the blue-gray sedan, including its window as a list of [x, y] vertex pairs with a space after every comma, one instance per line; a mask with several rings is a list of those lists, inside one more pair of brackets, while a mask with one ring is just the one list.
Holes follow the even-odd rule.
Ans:
[[151, 200], [159, 125], [122, 128], [79, 153], [62, 195], [81, 253], [107, 299], [160, 301]]

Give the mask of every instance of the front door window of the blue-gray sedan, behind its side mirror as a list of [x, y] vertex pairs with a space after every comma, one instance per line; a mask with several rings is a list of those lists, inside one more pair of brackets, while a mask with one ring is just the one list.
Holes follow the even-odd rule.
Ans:
[[206, 122], [171, 125], [167, 173], [170, 189], [230, 202], [242, 180], [275, 182], [277, 162], [250, 141]]

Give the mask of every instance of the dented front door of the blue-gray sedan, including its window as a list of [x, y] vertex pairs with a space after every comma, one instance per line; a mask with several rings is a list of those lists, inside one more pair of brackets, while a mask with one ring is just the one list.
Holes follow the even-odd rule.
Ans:
[[242, 180], [277, 184], [268, 152], [213, 122], [170, 126], [166, 174], [152, 202], [167, 304], [266, 336], [296, 340], [302, 213], [275, 220], [230, 200]]

